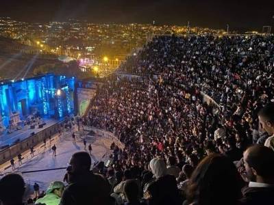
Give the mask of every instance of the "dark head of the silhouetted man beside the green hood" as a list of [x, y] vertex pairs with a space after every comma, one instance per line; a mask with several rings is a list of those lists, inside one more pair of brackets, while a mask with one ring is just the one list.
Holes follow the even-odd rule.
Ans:
[[90, 171], [91, 159], [88, 152], [76, 152], [69, 161], [71, 172], [74, 174]]

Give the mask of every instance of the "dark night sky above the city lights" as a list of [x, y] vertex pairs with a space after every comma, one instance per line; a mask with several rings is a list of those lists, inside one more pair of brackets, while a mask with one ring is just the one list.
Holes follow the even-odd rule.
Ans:
[[274, 0], [0, 0], [0, 16], [47, 22], [152, 23], [233, 29], [274, 27]]

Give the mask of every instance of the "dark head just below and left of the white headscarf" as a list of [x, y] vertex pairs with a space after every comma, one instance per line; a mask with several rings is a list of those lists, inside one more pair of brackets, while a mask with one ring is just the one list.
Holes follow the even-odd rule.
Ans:
[[127, 197], [127, 202], [138, 201], [139, 187], [136, 180], [127, 180], [125, 182], [124, 192]]

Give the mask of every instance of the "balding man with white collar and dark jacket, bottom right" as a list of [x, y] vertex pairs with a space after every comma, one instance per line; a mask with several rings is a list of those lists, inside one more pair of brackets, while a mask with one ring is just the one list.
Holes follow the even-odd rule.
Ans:
[[274, 152], [262, 145], [254, 145], [244, 152], [249, 186], [242, 190], [242, 204], [270, 205], [274, 203]]

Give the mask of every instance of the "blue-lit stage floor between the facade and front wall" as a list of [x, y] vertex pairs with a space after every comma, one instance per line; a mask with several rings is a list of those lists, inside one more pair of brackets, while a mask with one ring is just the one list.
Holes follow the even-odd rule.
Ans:
[[0, 135], [0, 150], [3, 146], [11, 146], [12, 143], [14, 143], [14, 141], [18, 139], [20, 139], [20, 141], [27, 139], [27, 137], [29, 137], [29, 135], [33, 132], [38, 133], [45, 128], [48, 128], [49, 126], [60, 122], [60, 120], [55, 120], [52, 118], [42, 118], [42, 120], [44, 120], [44, 122], [46, 123], [43, 128], [38, 128], [38, 126], [36, 125], [36, 128], [30, 129], [29, 125], [26, 125], [21, 130], [13, 131], [12, 133], [7, 133], [7, 131], [5, 131], [5, 133]]

